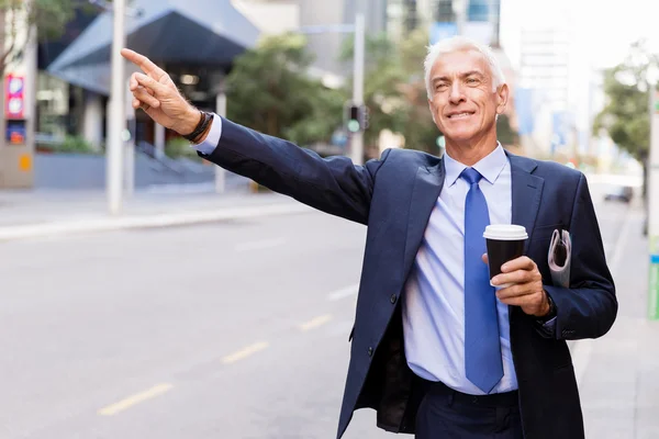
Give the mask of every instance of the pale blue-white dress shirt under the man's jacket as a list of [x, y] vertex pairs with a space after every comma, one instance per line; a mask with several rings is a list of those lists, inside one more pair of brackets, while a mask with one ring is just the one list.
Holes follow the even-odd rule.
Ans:
[[[407, 364], [428, 381], [472, 395], [483, 392], [465, 372], [465, 165], [444, 155], [446, 180], [405, 284], [403, 334]], [[473, 168], [488, 202], [490, 224], [511, 224], [511, 165], [501, 145]], [[492, 292], [494, 294], [494, 292]], [[492, 393], [517, 389], [509, 308], [496, 300], [503, 378]]]

